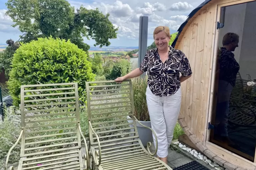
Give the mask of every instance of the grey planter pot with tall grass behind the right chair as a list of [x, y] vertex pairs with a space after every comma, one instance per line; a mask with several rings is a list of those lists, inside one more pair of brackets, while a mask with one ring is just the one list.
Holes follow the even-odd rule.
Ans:
[[[131, 119], [130, 116], [127, 116], [127, 119]], [[129, 120], [129, 123], [133, 123], [133, 120]], [[141, 124], [148, 126], [151, 128], [151, 122], [150, 121], [140, 121]], [[138, 133], [139, 133], [139, 139], [141, 140], [144, 147], [147, 147], [147, 143], [153, 141], [153, 135], [152, 131], [148, 128], [144, 128], [141, 126], [138, 122], [136, 122]], [[134, 127], [133, 125], [129, 125], [130, 127]], [[134, 129], [131, 129], [131, 132], [134, 132]], [[133, 134], [132, 134], [133, 135]]]

